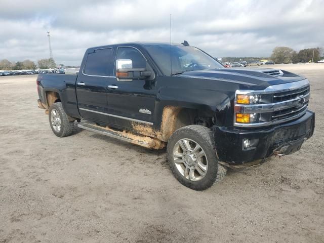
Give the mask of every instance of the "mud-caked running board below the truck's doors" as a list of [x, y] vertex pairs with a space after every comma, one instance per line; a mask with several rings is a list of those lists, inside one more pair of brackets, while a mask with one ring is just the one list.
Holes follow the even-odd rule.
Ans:
[[165, 142], [160, 141], [156, 138], [136, 135], [126, 131], [120, 132], [108, 127], [101, 127], [91, 123], [80, 123], [77, 124], [77, 127], [91, 132], [99, 133], [111, 138], [116, 138], [119, 140], [137, 144], [146, 148], [160, 149], [166, 146]]

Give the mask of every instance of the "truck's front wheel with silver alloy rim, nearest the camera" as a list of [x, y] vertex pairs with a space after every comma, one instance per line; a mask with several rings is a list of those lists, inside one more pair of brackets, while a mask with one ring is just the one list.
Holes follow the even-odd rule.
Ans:
[[[171, 171], [181, 184], [200, 191], [225, 177], [227, 168], [218, 164], [214, 144], [212, 130], [204, 126], [190, 125], [172, 134], [167, 155]], [[195, 151], [196, 145], [200, 148]]]

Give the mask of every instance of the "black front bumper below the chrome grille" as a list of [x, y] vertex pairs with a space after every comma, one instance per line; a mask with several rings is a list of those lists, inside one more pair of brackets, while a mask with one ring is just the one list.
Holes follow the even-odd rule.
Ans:
[[[304, 140], [314, 133], [315, 113], [307, 110], [300, 118], [270, 129], [240, 130], [213, 127], [218, 159], [230, 164], [244, 164], [272, 155], [298, 151]], [[244, 148], [243, 139], [251, 146]]]

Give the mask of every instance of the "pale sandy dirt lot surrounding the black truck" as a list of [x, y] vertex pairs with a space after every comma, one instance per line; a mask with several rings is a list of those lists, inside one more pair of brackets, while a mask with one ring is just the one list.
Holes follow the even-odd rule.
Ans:
[[203, 192], [165, 150], [54, 136], [36, 76], [0, 77], [0, 242], [324, 242], [324, 64], [271, 67], [309, 78], [314, 136]]

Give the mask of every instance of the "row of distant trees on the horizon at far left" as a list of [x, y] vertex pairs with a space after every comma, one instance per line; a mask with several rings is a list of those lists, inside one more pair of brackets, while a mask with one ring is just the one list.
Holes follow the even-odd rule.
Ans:
[[[39, 69], [49, 69], [55, 68], [56, 64], [53, 58], [49, 58], [38, 60], [37, 66]], [[29, 59], [26, 59], [21, 62], [10, 62], [7, 59], [0, 60], [0, 70], [31, 70], [36, 69], [37, 66], [33, 61]]]

